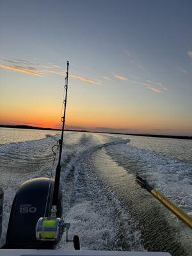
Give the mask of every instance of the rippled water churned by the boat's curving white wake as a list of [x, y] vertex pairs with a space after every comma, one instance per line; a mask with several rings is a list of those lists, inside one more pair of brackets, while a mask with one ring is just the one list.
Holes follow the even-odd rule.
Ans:
[[[11, 134], [13, 129], [6, 130]], [[31, 141], [10, 139], [0, 146], [0, 187], [4, 189], [1, 244], [20, 184], [34, 177], [52, 177], [56, 168], [51, 147], [60, 135], [44, 131], [44, 138], [36, 133], [34, 140], [35, 132], [31, 131]], [[71, 223], [69, 236], [78, 234], [84, 250], [192, 255], [191, 230], [134, 181], [140, 173], [192, 216], [191, 148], [192, 141], [187, 140], [65, 132], [61, 184], [63, 216]], [[72, 244], [66, 244], [63, 236], [58, 247], [70, 250]]]

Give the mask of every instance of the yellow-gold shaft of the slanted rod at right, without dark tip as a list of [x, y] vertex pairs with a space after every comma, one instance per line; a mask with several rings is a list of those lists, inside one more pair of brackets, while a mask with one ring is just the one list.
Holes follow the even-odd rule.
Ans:
[[152, 195], [154, 195], [166, 208], [173, 212], [181, 221], [186, 223], [188, 227], [192, 228], [192, 218], [188, 216], [185, 212], [179, 209], [176, 205], [170, 202], [163, 195], [159, 194], [155, 189], [150, 191]]

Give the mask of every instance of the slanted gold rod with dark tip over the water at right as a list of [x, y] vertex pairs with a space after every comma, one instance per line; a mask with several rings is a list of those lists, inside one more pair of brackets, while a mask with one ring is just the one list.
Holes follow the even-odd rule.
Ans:
[[167, 209], [173, 212], [182, 222], [188, 225], [189, 228], [192, 228], [192, 218], [188, 216], [185, 212], [183, 212], [179, 207], [170, 202], [166, 197], [161, 195], [159, 192], [154, 189], [153, 186], [148, 184], [147, 180], [143, 179], [138, 173], [136, 174], [136, 182], [141, 186], [141, 188], [147, 189], [149, 193], [151, 193], [161, 204], [163, 204]]

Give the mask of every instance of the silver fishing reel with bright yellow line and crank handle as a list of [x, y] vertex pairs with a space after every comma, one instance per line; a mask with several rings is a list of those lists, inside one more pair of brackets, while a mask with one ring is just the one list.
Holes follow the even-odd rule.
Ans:
[[58, 243], [66, 230], [66, 242], [73, 242], [75, 250], [80, 250], [78, 236], [74, 236], [74, 239], [68, 239], [69, 228], [70, 223], [63, 221], [61, 218], [40, 218], [35, 228], [36, 239], [38, 241], [56, 241]]

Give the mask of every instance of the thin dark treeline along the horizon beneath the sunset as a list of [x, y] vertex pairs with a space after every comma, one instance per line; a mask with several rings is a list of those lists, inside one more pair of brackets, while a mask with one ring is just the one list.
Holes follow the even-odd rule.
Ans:
[[[4, 127], [4, 128], [17, 128], [17, 129], [34, 129], [34, 130], [61, 131], [61, 129], [43, 128], [43, 127], [36, 127], [36, 126], [30, 126], [30, 125], [2, 125], [2, 124], [0, 124], [0, 127]], [[192, 136], [136, 134], [136, 133], [120, 133], [120, 132], [98, 132], [98, 131], [70, 130], [70, 129], [66, 129], [65, 131], [72, 131], [72, 132], [97, 132], [97, 133], [132, 135], [132, 136], [145, 136], [145, 137], [155, 137], [155, 138], [170, 138], [170, 139], [192, 140]]]

